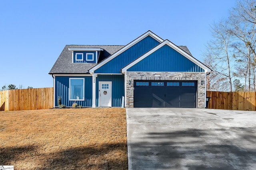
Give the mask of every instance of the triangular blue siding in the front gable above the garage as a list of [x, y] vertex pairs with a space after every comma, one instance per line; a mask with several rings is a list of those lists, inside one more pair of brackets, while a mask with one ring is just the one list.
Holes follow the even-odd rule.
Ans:
[[204, 72], [204, 69], [172, 49], [172, 47], [164, 45], [142, 61], [128, 68], [127, 71]]

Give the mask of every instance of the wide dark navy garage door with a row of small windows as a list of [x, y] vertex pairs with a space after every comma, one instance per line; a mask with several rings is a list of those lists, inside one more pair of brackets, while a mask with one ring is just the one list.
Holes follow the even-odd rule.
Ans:
[[196, 81], [134, 80], [134, 107], [196, 107]]

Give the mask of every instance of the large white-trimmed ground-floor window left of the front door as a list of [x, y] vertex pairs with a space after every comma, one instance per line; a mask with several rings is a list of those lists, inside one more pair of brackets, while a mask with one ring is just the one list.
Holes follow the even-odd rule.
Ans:
[[69, 78], [69, 100], [84, 101], [84, 78]]

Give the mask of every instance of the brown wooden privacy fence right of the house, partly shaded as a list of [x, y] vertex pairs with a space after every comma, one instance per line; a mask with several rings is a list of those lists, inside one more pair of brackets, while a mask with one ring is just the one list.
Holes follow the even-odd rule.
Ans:
[[209, 109], [254, 110], [256, 111], [256, 92], [213, 92], [207, 91], [210, 97]]

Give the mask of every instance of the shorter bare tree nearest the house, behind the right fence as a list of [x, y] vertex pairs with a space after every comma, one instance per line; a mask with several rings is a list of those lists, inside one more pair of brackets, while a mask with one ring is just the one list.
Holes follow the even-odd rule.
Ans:
[[[232, 55], [230, 54], [231, 34], [229, 22], [221, 20], [211, 27], [213, 40], [208, 42], [207, 51], [204, 53], [204, 63], [211, 61], [208, 66], [214, 73], [212, 88], [218, 91], [232, 92]], [[219, 87], [217, 87], [217, 85]]]

